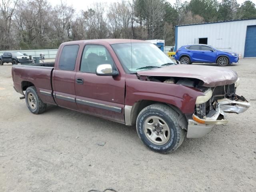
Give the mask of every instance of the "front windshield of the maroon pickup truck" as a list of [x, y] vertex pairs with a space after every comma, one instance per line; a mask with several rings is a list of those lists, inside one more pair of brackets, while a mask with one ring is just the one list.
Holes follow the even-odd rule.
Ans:
[[164, 52], [152, 43], [123, 43], [111, 46], [127, 73], [174, 64]]

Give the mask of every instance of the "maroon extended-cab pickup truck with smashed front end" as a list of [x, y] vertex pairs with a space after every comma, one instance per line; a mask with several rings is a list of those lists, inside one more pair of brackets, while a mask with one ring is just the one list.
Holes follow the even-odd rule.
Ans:
[[151, 150], [173, 152], [184, 137], [226, 124], [226, 113], [250, 107], [236, 95], [239, 78], [228, 69], [177, 65], [141, 40], [82, 40], [60, 45], [55, 62], [12, 66], [14, 89], [28, 109], [46, 104], [135, 125]]

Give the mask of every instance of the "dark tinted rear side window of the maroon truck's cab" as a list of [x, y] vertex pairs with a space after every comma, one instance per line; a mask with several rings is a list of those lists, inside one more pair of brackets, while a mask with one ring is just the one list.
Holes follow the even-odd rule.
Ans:
[[76, 57], [79, 45], [65, 45], [60, 54], [59, 69], [73, 71], [76, 65]]

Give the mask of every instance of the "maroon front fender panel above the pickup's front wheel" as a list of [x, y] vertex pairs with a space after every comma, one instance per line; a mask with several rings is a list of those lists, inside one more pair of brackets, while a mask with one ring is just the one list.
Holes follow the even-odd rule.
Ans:
[[200, 90], [188, 86], [139, 80], [132, 74], [126, 77], [125, 105], [128, 106], [140, 100], [150, 100], [175, 106], [183, 114], [193, 114], [197, 96], [204, 95]]

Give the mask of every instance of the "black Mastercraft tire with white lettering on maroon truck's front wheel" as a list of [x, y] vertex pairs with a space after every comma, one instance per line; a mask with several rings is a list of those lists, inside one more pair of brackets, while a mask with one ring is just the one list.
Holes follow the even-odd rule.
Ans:
[[[150, 150], [153, 150], [153, 151], [159, 152], [159, 153], [171, 153], [182, 144], [182, 142], [184, 141], [184, 138], [185, 138], [185, 130], [180, 128], [179, 122], [178, 122], [178, 116], [179, 115], [175, 110], [173, 110], [172, 108], [170, 108], [170, 106], [165, 105], [165, 104], [152, 104], [150, 106], [147, 106], [139, 113], [139, 115], [137, 117], [136, 128], [137, 128], [138, 136]], [[170, 138], [168, 140], [166, 139], [167, 142], [162, 145], [155, 144], [148, 138], [149, 133], [148, 133], [148, 130], [146, 132], [145, 129], [147, 129], [147, 128], [145, 127], [144, 124], [146, 124], [147, 120], [150, 119], [151, 117], [152, 118], [157, 117], [157, 118], [161, 118], [162, 120], [164, 120], [164, 123], [166, 123], [168, 125], [168, 128], [170, 130], [169, 131]], [[154, 123], [154, 122], [152, 122], [152, 123]], [[156, 129], [154, 129], [154, 130], [156, 130]], [[151, 134], [154, 134], [155, 132], [157, 134], [157, 131], [154, 131]], [[161, 131], [161, 133], [162, 133], [162, 131]], [[148, 134], [148, 135], [146, 135], [146, 134]], [[165, 133], [162, 133], [162, 134], [165, 134]], [[158, 137], [158, 136], [156, 136], [156, 137]]]

